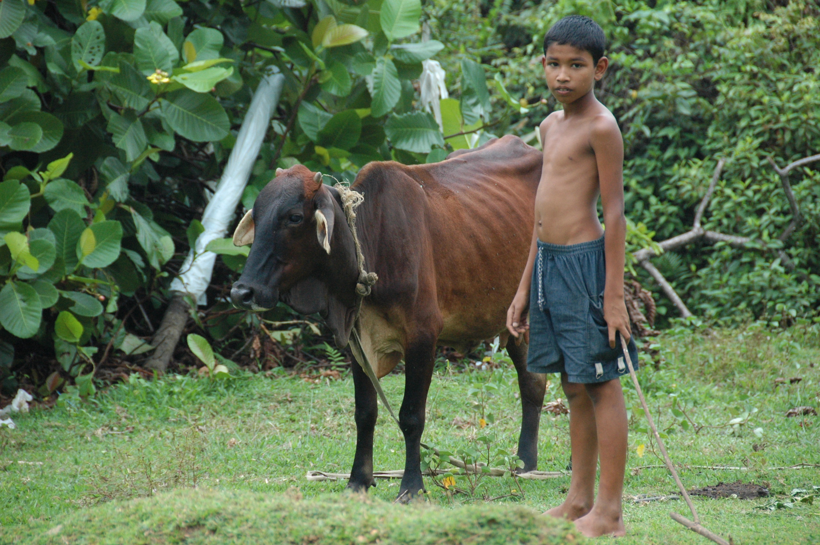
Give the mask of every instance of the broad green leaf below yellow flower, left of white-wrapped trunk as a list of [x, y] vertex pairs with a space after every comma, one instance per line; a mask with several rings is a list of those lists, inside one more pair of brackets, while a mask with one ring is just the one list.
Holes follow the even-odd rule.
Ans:
[[228, 114], [210, 94], [180, 89], [162, 100], [162, 113], [171, 128], [194, 142], [222, 140], [228, 135]]

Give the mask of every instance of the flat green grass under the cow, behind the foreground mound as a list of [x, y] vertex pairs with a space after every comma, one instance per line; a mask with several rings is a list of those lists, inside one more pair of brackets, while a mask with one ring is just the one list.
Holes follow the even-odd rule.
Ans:
[[[820, 343], [816, 333], [799, 328], [766, 332], [754, 327], [708, 334], [668, 332], [658, 344], [663, 358], [660, 370], [654, 370], [649, 363], [639, 374], [655, 420], [666, 430], [672, 460], [679, 465], [750, 468], [682, 469], [681, 479], [688, 488], [742, 479], [768, 485], [782, 500], [793, 488], [811, 490], [820, 486], [818, 468], [772, 469], [801, 462], [820, 464], [820, 419], [785, 416], [786, 410], [797, 405], [817, 409], [820, 403]], [[776, 378], [796, 377], [802, 380], [795, 384], [786, 380], [775, 387]], [[403, 376], [390, 375], [383, 382], [391, 401], [399, 405]], [[499, 387], [498, 394], [486, 403], [495, 422], [479, 430], [476, 424], [480, 407], [474, 405], [476, 397], [467, 392], [487, 382]], [[624, 491], [627, 538], [617, 543], [708, 543], [669, 518], [672, 510], [689, 516], [683, 501], [631, 501], [638, 494], [674, 493], [676, 486], [666, 469], [632, 470], [663, 462], [654, 455], [654, 442], [642, 430], [645, 419], [635, 410], [637, 396], [628, 379], [624, 387], [627, 407], [632, 410]], [[546, 401], [561, 396], [553, 378]], [[673, 402], [688, 407], [686, 414], [695, 424], [724, 427], [703, 428], [699, 433], [692, 428], [684, 430], [672, 414]], [[738, 414], [753, 409], [757, 411], [750, 414], [747, 423], [738, 428], [726, 426]], [[457, 417], [471, 425], [453, 425]], [[315, 506], [333, 504], [344, 482], [308, 482], [304, 475], [310, 469], [348, 472], [355, 446], [353, 382], [349, 378], [318, 384], [248, 373], [225, 382], [192, 377], [169, 377], [157, 382], [133, 379], [109, 388], [92, 401], [33, 410], [17, 418], [16, 424], [16, 430], [0, 428], [0, 543], [27, 543], [32, 538], [50, 543], [52, 537], [44, 533], [59, 524], [73, 533], [71, 543], [115, 543], [106, 524], [113, 524], [119, 517], [121, 535], [150, 530], [156, 532], [152, 543], [229, 543], [230, 534], [206, 536], [194, 532], [198, 536], [195, 539], [174, 534], [189, 527], [185, 526], [188, 522], [180, 520], [186, 516], [185, 520], [206, 520], [215, 506], [224, 506], [226, 513], [224, 524], [217, 524], [219, 528], [272, 536], [264, 534], [268, 531], [265, 523], [282, 520], [281, 513], [277, 515], [281, 507], [277, 506], [292, 503], [296, 493], [287, 492], [289, 488], [297, 487], [304, 496], [298, 507], [304, 513], [317, 512]], [[476, 436], [492, 434], [496, 437], [494, 447], [513, 450], [519, 424], [515, 372], [508, 365], [464, 373], [449, 373], [442, 368], [434, 378], [426, 443], [456, 451], [475, 447]], [[756, 428], [762, 428], [761, 437], [754, 433]], [[645, 454], [638, 457], [636, 451], [641, 444], [646, 446]], [[564, 469], [570, 454], [566, 415], [544, 413], [539, 447], [538, 469]], [[403, 439], [385, 410], [376, 426], [375, 465], [376, 469], [403, 467]], [[458, 480], [458, 486], [465, 488], [462, 478]], [[462, 527], [463, 520], [488, 516], [498, 519], [505, 513], [510, 520], [526, 519], [529, 515], [522, 513], [531, 511], [513, 511], [517, 506], [544, 511], [562, 501], [569, 479], [516, 484], [512, 479], [486, 478], [476, 490], [476, 497], [456, 495], [452, 501], [430, 479], [426, 483], [430, 503], [440, 506], [435, 516], [430, 515], [430, 523], [435, 520], [444, 527]], [[196, 491], [186, 490], [194, 486]], [[512, 490], [524, 496], [491, 502], [481, 499], [506, 496]], [[370, 497], [392, 501], [397, 492], [398, 481], [380, 480]], [[126, 502], [139, 497], [148, 498]], [[288, 497], [287, 501], [282, 499]], [[760, 508], [771, 499], [695, 498], [695, 506], [704, 525], [717, 534], [731, 535], [736, 543], [820, 543], [820, 497], [813, 505], [803, 503], [776, 511]], [[231, 507], [234, 503], [260, 506], [248, 511], [258, 516], [243, 518], [241, 510]], [[176, 513], [174, 506], [189, 504], [188, 511]], [[425, 511], [376, 501], [365, 505], [378, 507], [380, 515], [360, 518], [357, 513], [368, 511], [360, 504], [342, 501], [337, 506], [339, 512], [349, 514], [344, 520], [355, 523], [344, 526], [348, 528], [344, 532], [352, 532], [356, 524], [364, 528], [374, 520], [404, 517], [410, 524], [426, 517], [417, 515]], [[466, 506], [482, 506], [490, 511], [467, 511]], [[89, 522], [84, 525], [81, 520]], [[301, 519], [295, 516], [289, 520]], [[311, 519], [308, 516], [305, 520]], [[306, 534], [299, 532], [312, 526], [299, 524], [288, 522], [289, 530], [276, 535], [291, 535], [294, 540], [289, 543], [303, 543]], [[479, 522], [475, 525], [481, 527]], [[162, 530], [166, 527], [177, 530]], [[300, 529], [303, 527], [307, 529]], [[518, 526], [505, 528], [518, 531]], [[317, 533], [322, 534], [319, 530]], [[66, 534], [55, 534], [54, 543], [62, 543], [57, 540], [59, 535]], [[390, 539], [386, 534], [382, 536], [383, 542], [392, 543], [398, 534], [391, 535], [394, 537]], [[327, 536], [337, 536], [335, 543], [352, 543], [343, 534]], [[271, 539], [265, 541], [275, 543]]]

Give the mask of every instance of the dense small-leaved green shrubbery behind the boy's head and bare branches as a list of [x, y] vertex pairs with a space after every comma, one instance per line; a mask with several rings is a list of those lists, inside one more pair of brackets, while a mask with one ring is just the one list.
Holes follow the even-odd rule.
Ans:
[[[435, 0], [429, 11], [434, 35], [449, 46], [444, 67], [479, 55], [531, 106], [500, 122], [499, 134], [531, 133], [557, 105], [538, 63], [549, 26], [571, 13], [599, 21], [611, 64], [597, 94], [622, 126], [627, 216], [654, 231], [655, 240], [688, 231], [717, 160], [728, 158], [704, 228], [782, 247], [795, 263], [790, 271], [776, 252], [695, 244], [656, 259], [660, 271], [707, 318], [817, 315], [820, 169], [814, 163], [792, 172], [805, 221], [781, 242], [792, 216], [767, 160], [784, 167], [820, 152], [816, 2], [485, 0], [466, 11], [449, 5]], [[676, 315], [663, 302], [659, 310]]]

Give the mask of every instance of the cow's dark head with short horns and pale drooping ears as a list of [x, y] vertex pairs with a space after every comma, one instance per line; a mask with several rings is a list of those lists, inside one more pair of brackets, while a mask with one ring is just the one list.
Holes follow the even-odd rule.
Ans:
[[350, 290], [338, 285], [355, 286], [358, 268], [335, 195], [319, 172], [303, 165], [277, 168], [234, 232], [235, 245], [253, 246], [230, 300], [245, 310], [272, 309], [283, 300], [302, 314], [321, 313], [344, 346], [353, 303], [344, 296]]

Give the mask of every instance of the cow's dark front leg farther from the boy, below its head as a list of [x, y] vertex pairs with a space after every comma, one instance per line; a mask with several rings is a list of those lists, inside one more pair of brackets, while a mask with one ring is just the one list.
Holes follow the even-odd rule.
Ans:
[[373, 479], [373, 430], [376, 428], [379, 406], [376, 405], [376, 388], [370, 378], [355, 359], [351, 367], [356, 400], [356, 456], [353, 457], [348, 488], [367, 492], [368, 488], [376, 486]]

